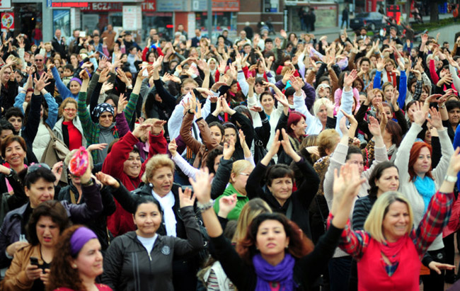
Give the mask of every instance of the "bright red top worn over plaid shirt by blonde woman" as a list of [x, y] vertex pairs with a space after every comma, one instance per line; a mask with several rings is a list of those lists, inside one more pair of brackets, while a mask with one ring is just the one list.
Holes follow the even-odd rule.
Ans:
[[381, 258], [379, 243], [370, 239], [364, 255], [358, 261], [358, 290], [390, 291], [405, 290], [418, 291], [420, 273], [420, 258], [414, 242], [405, 236], [406, 244], [402, 247], [398, 268], [389, 276], [385, 270], [385, 262]]

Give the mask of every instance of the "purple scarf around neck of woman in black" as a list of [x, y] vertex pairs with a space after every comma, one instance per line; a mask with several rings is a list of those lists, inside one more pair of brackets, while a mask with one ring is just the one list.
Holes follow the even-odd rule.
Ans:
[[270, 282], [280, 283], [280, 291], [294, 290], [294, 263], [295, 260], [290, 253], [286, 253], [283, 260], [272, 266], [265, 261], [260, 253], [253, 257], [257, 285], [255, 291], [270, 291]]

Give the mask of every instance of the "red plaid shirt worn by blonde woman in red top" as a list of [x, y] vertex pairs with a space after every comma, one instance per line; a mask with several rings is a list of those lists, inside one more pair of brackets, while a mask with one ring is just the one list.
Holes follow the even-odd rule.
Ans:
[[[412, 229], [409, 236], [412, 239], [418, 257], [421, 260], [428, 247], [435, 241], [436, 237], [442, 233], [442, 229], [449, 222], [449, 217], [454, 201], [454, 193], [440, 193], [433, 195], [428, 210], [425, 212], [417, 229]], [[333, 215], [328, 217], [328, 226], [333, 219]], [[343, 229], [342, 237], [339, 242], [340, 249], [349, 253], [357, 261], [364, 255], [372, 237], [364, 230], [352, 231], [350, 220]], [[392, 275], [398, 266], [398, 262], [393, 266], [387, 266], [386, 272]]]

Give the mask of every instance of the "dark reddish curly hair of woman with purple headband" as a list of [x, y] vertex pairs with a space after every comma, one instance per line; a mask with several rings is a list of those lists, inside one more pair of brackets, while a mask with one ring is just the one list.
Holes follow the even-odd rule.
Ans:
[[71, 290], [86, 291], [86, 287], [81, 281], [79, 270], [71, 268], [71, 260], [76, 256], [71, 255], [70, 239], [76, 229], [83, 225], [74, 225], [64, 231], [59, 242], [54, 249], [54, 257], [50, 268], [47, 291], [56, 290], [59, 287], [67, 287]]

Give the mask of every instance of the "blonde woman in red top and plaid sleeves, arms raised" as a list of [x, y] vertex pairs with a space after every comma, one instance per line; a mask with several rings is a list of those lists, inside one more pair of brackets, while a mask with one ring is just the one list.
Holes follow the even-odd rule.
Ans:
[[[413, 227], [415, 212], [411, 207], [414, 204], [406, 198], [407, 194], [395, 191], [386, 192], [376, 200], [364, 223], [364, 230], [353, 232], [348, 222], [339, 246], [358, 261], [358, 290], [419, 290], [420, 261], [449, 222], [454, 199], [452, 177], [456, 177], [460, 170], [459, 152], [457, 149], [448, 162], [447, 176], [437, 193], [432, 195], [425, 215], [415, 224], [416, 228]], [[329, 221], [335, 218], [335, 212], [345, 199], [335, 192], [341, 184], [346, 185], [348, 179], [345, 175], [344, 180], [343, 176], [342, 173], [340, 177], [335, 175]], [[402, 171], [400, 176], [403, 176]], [[338, 183], [339, 179], [341, 183]], [[351, 197], [347, 199], [353, 200]]]

